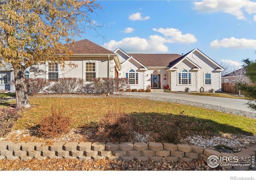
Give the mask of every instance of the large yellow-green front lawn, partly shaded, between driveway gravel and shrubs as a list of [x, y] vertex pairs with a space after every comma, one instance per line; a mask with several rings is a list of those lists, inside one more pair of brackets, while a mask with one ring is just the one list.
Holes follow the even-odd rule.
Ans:
[[[64, 116], [74, 120], [73, 128], [96, 127], [109, 112], [121, 109], [138, 118], [144, 130], [167, 130], [168, 124], [179, 121], [178, 126], [188, 133], [256, 134], [256, 120], [214, 110], [135, 98], [30, 98], [32, 107], [23, 112], [15, 129], [31, 128], [49, 116], [51, 106], [63, 108]], [[1, 103], [0, 103], [1, 105]]]

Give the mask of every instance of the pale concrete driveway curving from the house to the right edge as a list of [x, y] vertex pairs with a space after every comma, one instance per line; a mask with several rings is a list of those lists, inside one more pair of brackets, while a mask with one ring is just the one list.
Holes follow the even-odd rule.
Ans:
[[221, 98], [213, 96], [198, 96], [189, 94], [178, 94], [168, 92], [121, 92], [120, 94], [133, 95], [133, 96], [149, 96], [158, 98], [172, 98], [178, 100], [186, 100], [192, 102], [200, 102], [204, 104], [211, 104], [215, 106], [221, 106], [225, 108], [243, 110], [247, 112], [254, 112], [247, 105], [248, 100], [235, 99], [235, 98]]

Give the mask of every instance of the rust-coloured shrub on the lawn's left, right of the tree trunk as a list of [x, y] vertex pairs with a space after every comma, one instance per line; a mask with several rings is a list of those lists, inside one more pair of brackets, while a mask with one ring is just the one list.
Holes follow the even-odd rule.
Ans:
[[47, 138], [67, 133], [71, 128], [72, 118], [64, 117], [62, 113], [62, 109], [57, 112], [52, 106], [51, 116], [42, 118], [38, 132]]

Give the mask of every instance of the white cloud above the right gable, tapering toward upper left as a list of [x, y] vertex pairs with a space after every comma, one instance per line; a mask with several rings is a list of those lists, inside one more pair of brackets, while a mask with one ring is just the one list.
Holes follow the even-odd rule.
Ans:
[[197, 39], [195, 38], [194, 35], [182, 34], [182, 32], [178, 29], [174, 29], [174, 28], [156, 29], [156, 28], [154, 28], [153, 30], [164, 34], [164, 36], [166, 36], [166, 37], [171, 37], [171, 38], [167, 39], [167, 41], [171, 42], [171, 43], [178, 42], [180, 44], [189, 44], [189, 43], [194, 43], [197, 41]]

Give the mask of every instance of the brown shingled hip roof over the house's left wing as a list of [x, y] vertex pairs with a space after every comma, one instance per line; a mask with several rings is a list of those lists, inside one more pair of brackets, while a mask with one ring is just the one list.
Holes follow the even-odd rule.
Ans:
[[76, 41], [74, 44], [65, 44], [65, 46], [67, 46], [69, 50], [72, 50], [74, 54], [115, 54], [88, 39]]

